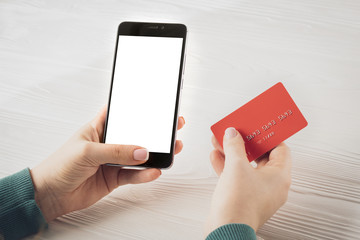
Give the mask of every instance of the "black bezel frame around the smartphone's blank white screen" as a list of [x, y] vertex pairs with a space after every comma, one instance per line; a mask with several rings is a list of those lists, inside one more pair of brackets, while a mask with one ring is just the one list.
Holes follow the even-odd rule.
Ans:
[[115, 54], [114, 54], [113, 69], [112, 69], [112, 75], [111, 75], [111, 84], [110, 84], [110, 93], [109, 93], [109, 99], [108, 99], [108, 105], [107, 105], [106, 120], [105, 120], [105, 126], [104, 126], [104, 136], [103, 136], [103, 141], [102, 141], [103, 143], [106, 143], [106, 132], [107, 132], [108, 117], [109, 117], [109, 113], [110, 113], [110, 104], [111, 104], [112, 88], [113, 88], [113, 81], [114, 81], [114, 74], [115, 74], [119, 35], [183, 38], [178, 84], [177, 84], [177, 91], [176, 91], [175, 112], [174, 112], [174, 120], [173, 120], [170, 153], [150, 152], [148, 161], [146, 161], [144, 164], [135, 165], [135, 166], [111, 164], [111, 163], [107, 164], [110, 166], [120, 166], [120, 167], [126, 166], [126, 167], [161, 168], [161, 169], [169, 168], [169, 167], [171, 167], [173, 160], [174, 160], [179, 100], [180, 100], [180, 92], [181, 92], [181, 88], [182, 88], [183, 71], [184, 71], [187, 28], [184, 24], [178, 24], [178, 23], [150, 23], [150, 22], [122, 22], [122, 23], [120, 23], [120, 25], [118, 27], [117, 35], [116, 35]]

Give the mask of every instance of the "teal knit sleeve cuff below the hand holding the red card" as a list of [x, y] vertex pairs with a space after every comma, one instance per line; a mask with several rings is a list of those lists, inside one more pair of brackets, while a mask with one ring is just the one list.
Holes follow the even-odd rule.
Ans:
[[256, 240], [256, 234], [249, 225], [231, 223], [212, 231], [206, 240]]

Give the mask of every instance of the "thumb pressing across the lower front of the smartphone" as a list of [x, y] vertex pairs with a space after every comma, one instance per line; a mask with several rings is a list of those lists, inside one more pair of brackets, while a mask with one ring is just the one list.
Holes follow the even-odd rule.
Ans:
[[149, 151], [134, 145], [88, 142], [85, 144], [83, 155], [93, 165], [106, 163], [138, 165], [148, 160]]

